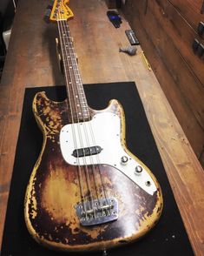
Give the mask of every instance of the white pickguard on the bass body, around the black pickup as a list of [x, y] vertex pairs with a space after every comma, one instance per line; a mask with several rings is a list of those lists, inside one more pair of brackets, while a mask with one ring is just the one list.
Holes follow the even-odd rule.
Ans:
[[[95, 145], [101, 146], [102, 152], [82, 158], [72, 155], [76, 149]], [[70, 165], [111, 165], [145, 192], [153, 195], [157, 190], [155, 182], [144, 168], [141, 173], [135, 172], [135, 167], [140, 164], [124, 151], [121, 143], [121, 119], [113, 113], [99, 113], [88, 122], [64, 125], [60, 132], [60, 147], [64, 160]], [[123, 156], [128, 157], [125, 165], [121, 161]], [[118, 170], [115, 169], [115, 172]]]

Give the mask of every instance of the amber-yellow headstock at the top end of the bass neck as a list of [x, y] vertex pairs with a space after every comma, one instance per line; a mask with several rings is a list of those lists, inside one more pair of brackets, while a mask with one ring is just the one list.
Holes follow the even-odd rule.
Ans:
[[72, 10], [68, 6], [69, 0], [55, 0], [49, 19], [51, 21], [68, 20], [74, 17]]

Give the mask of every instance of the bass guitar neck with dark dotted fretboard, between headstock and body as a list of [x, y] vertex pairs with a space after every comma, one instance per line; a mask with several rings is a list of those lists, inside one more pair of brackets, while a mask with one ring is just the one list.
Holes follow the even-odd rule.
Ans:
[[68, 94], [71, 123], [78, 123], [90, 120], [89, 106], [82, 86], [76, 52], [66, 20], [57, 21], [61, 51], [63, 57], [64, 74]]

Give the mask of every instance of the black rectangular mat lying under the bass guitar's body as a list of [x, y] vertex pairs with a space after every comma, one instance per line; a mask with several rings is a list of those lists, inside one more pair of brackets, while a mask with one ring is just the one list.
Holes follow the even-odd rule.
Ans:
[[[111, 98], [117, 98], [122, 103], [126, 115], [128, 148], [155, 174], [164, 197], [164, 209], [157, 226], [144, 238], [132, 245], [112, 250], [109, 255], [194, 255], [135, 83], [91, 84], [84, 87], [89, 105], [95, 109], [105, 108]], [[57, 101], [65, 98], [64, 86], [32, 88], [25, 91], [23, 117], [3, 232], [3, 256], [64, 255], [49, 251], [31, 239], [23, 219], [26, 185], [43, 141], [31, 111], [32, 99], [37, 91], [46, 91], [49, 98]]]

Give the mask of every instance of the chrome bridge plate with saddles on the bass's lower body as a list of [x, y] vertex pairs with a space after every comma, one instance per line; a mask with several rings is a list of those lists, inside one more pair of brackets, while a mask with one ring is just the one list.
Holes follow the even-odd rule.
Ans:
[[76, 205], [76, 214], [82, 226], [94, 226], [118, 218], [118, 202], [115, 198], [95, 199]]

